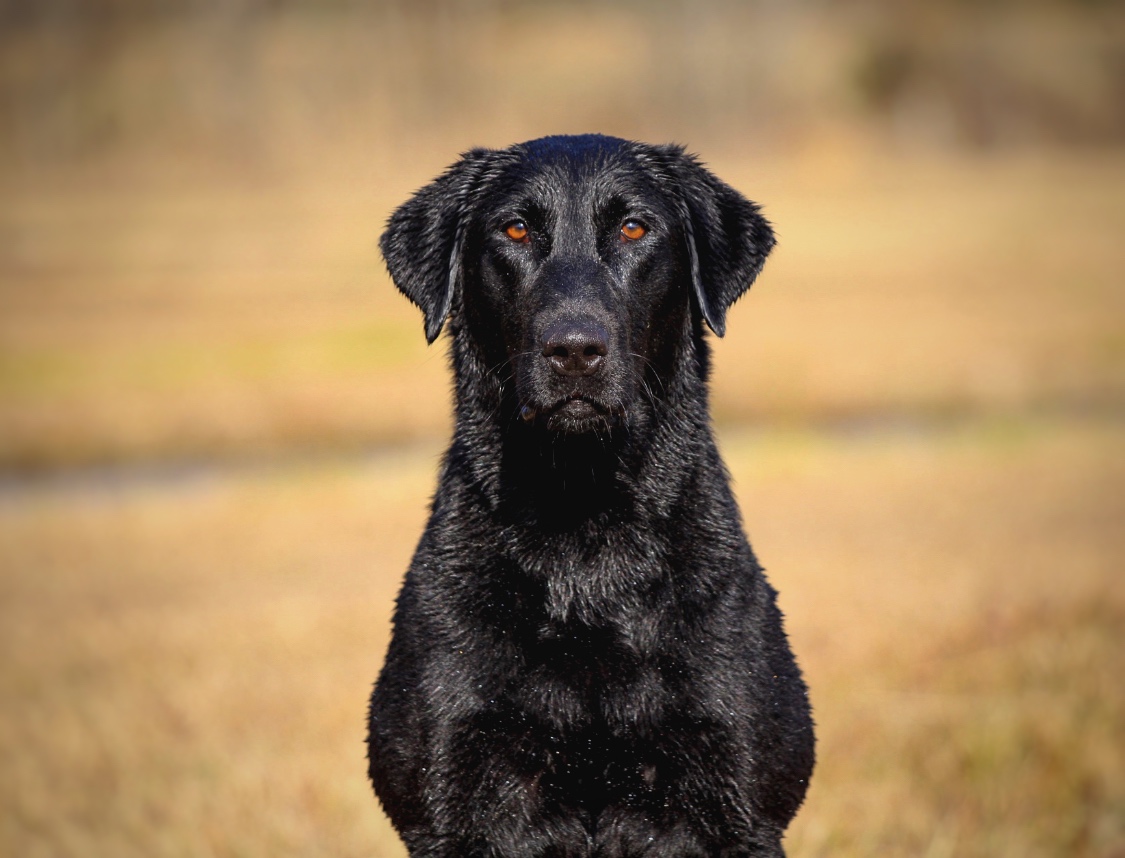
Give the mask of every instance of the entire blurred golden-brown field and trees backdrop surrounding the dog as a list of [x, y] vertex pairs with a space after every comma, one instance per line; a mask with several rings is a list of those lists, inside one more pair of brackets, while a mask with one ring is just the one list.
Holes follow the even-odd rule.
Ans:
[[0, 0], [0, 852], [404, 855], [366, 698], [449, 382], [377, 240], [580, 132], [777, 228], [713, 406], [790, 856], [1125, 856], [1116, 0]]

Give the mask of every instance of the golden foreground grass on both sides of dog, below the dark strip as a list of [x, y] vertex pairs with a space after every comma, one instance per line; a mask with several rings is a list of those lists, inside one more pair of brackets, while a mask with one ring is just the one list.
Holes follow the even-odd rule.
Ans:
[[[1120, 434], [723, 434], [807, 671], [791, 856], [1125, 842]], [[0, 500], [0, 851], [399, 856], [366, 695], [438, 449]]]

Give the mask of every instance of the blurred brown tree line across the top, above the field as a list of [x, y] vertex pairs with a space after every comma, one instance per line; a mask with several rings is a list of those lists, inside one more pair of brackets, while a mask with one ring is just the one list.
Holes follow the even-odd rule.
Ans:
[[540, 127], [1119, 145], [1125, 3], [0, 0], [9, 168]]

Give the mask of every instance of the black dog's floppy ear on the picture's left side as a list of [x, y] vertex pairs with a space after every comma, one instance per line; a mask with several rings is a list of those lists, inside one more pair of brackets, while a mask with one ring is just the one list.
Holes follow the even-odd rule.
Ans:
[[379, 250], [390, 279], [425, 316], [425, 338], [438, 338], [461, 274], [461, 250], [471, 196], [492, 153], [471, 150], [399, 206]]

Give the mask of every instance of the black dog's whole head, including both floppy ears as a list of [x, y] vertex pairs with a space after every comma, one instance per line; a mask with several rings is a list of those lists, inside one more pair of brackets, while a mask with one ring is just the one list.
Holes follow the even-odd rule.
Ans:
[[452, 311], [523, 421], [580, 434], [658, 395], [701, 322], [722, 334], [773, 241], [681, 148], [590, 135], [467, 153], [381, 247], [431, 342]]

